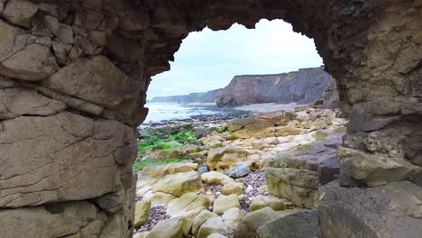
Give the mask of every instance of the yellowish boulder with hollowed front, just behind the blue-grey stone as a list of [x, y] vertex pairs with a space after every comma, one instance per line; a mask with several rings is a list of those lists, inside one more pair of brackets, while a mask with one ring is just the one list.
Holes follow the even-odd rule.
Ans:
[[248, 160], [249, 152], [242, 147], [228, 146], [208, 151], [206, 165], [209, 169], [225, 169]]

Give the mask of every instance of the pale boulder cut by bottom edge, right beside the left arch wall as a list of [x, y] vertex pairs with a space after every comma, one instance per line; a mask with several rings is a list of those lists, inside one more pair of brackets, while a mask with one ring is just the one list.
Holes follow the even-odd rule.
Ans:
[[188, 235], [191, 225], [189, 217], [178, 216], [162, 220], [154, 225], [145, 238], [181, 238]]

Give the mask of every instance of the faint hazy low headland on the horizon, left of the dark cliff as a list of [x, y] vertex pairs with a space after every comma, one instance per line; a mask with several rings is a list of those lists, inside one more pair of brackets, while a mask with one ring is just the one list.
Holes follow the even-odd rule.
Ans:
[[215, 89], [207, 91], [206, 93], [191, 93], [188, 95], [179, 96], [156, 96], [151, 99], [151, 103], [214, 103], [216, 102], [216, 95], [221, 92], [221, 90], [223, 89]]

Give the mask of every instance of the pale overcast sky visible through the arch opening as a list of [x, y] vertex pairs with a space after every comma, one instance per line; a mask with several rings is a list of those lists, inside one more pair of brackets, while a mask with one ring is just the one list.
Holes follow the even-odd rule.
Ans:
[[227, 31], [191, 32], [170, 62], [171, 70], [152, 78], [148, 99], [225, 87], [235, 75], [284, 73], [318, 67], [314, 41], [289, 23], [261, 20], [256, 29], [234, 24]]

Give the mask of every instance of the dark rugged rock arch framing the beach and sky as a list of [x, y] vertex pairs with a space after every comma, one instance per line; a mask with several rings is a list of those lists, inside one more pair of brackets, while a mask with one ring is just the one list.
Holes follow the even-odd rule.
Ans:
[[[351, 118], [341, 182], [411, 179], [402, 183], [413, 203], [398, 212], [420, 218], [420, 0], [4, 0], [0, 13], [2, 237], [129, 237], [134, 127], [151, 76], [170, 69], [188, 32], [262, 18], [314, 38], [337, 79]], [[353, 225], [333, 227], [336, 214], [362, 222], [356, 214], [324, 204], [352, 188], [325, 189], [323, 235], [358, 236]], [[362, 225], [373, 237], [390, 231]]]

